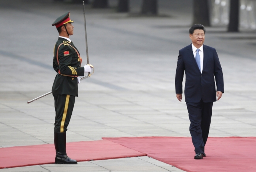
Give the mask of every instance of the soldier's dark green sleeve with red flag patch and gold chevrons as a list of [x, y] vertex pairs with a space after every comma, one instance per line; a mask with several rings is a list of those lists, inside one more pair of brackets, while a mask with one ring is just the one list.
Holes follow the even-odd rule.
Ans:
[[61, 45], [59, 49], [59, 69], [63, 75], [83, 76], [84, 67], [71, 66], [72, 51], [67, 45]]

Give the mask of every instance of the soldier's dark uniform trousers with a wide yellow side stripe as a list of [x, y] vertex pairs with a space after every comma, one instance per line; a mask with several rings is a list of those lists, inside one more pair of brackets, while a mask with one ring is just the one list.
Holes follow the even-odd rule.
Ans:
[[52, 95], [56, 112], [54, 131], [59, 133], [66, 132], [73, 112], [75, 96], [56, 95], [54, 93]]

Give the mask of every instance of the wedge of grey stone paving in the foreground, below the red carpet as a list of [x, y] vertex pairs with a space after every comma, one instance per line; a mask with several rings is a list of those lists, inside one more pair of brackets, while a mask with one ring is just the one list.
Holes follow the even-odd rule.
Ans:
[[173, 167], [172, 165], [162, 163], [148, 156], [144, 157], [132, 157], [121, 158], [111, 160], [99, 160], [99, 161], [86, 161], [79, 162], [75, 165], [60, 165], [60, 164], [46, 164], [46, 165], [34, 165], [29, 167], [18, 167], [0, 169], [3, 172], [41, 172], [41, 171], [80, 171], [80, 172], [182, 172], [182, 170]]

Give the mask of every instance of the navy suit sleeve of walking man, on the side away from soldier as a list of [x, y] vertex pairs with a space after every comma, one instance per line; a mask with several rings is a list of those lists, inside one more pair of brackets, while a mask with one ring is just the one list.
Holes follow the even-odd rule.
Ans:
[[223, 73], [221, 68], [221, 63], [219, 62], [219, 57], [214, 49], [214, 76], [216, 80], [217, 90], [224, 93], [224, 80], [223, 80]]

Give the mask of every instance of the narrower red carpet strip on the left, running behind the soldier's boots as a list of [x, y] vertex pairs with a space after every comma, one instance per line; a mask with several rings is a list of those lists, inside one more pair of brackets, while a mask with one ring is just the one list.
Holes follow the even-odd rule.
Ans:
[[[67, 154], [77, 161], [146, 156], [108, 140], [67, 143]], [[0, 168], [53, 164], [54, 144], [0, 148]]]

